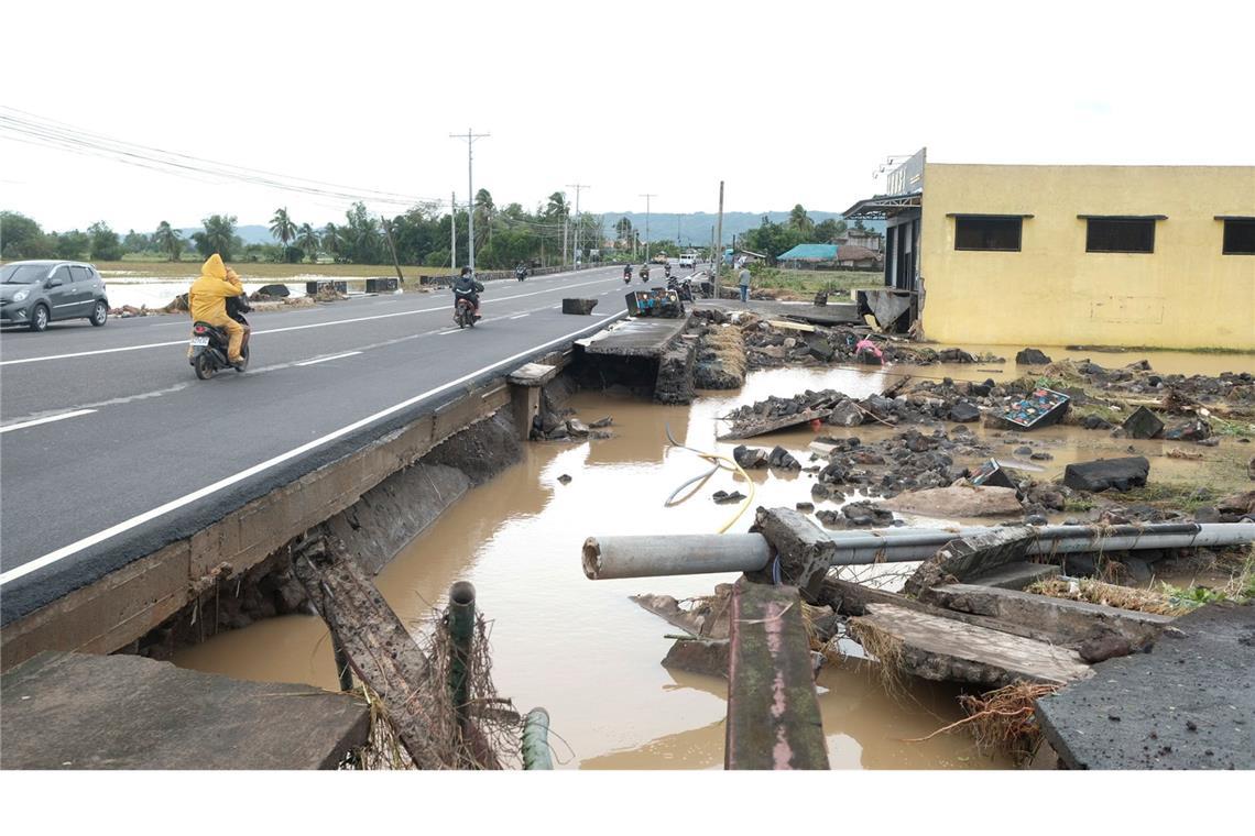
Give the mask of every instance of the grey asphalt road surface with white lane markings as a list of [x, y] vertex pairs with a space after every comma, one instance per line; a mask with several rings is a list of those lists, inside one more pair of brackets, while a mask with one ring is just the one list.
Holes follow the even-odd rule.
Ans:
[[[660, 274], [650, 286], [661, 283]], [[252, 313], [250, 368], [200, 381], [184, 316], [0, 336], [0, 620], [220, 519], [365, 437], [622, 315], [621, 268]], [[640, 287], [639, 280], [633, 281]], [[592, 317], [563, 297], [597, 298]]]

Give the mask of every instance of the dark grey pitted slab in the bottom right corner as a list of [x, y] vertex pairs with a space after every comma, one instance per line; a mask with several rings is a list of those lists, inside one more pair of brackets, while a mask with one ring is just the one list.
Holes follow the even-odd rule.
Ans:
[[1077, 770], [1255, 768], [1255, 607], [1177, 618], [1150, 653], [1037, 702], [1059, 760]]

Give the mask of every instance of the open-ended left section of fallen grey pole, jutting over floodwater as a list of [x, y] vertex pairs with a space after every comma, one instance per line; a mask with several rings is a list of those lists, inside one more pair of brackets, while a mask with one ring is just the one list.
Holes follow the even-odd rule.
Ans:
[[590, 536], [584, 541], [584, 574], [590, 580], [611, 580], [753, 572], [771, 556], [761, 534]]

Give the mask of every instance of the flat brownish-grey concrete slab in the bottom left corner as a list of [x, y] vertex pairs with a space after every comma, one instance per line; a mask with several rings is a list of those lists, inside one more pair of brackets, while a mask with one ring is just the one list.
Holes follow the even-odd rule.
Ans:
[[351, 694], [138, 656], [44, 652], [0, 682], [4, 770], [334, 770], [370, 727]]

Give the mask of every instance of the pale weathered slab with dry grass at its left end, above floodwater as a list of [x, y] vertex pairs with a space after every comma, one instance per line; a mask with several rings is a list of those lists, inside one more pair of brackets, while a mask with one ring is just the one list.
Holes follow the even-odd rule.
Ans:
[[882, 664], [937, 682], [993, 689], [1018, 681], [1068, 684], [1093, 674], [1076, 651], [889, 604], [868, 604], [850, 629], [863, 647], [894, 648]]

